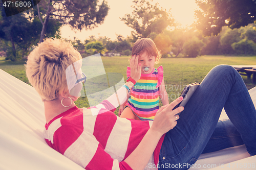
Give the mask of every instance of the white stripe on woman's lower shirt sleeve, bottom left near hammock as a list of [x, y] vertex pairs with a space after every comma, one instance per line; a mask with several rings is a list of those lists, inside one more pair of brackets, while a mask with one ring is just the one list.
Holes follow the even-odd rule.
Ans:
[[63, 155], [85, 168], [94, 157], [98, 144], [99, 142], [91, 133], [83, 131]]

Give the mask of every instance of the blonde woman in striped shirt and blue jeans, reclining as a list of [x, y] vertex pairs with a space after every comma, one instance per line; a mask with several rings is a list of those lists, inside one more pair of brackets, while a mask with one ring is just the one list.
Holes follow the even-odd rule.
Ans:
[[[140, 79], [138, 58], [131, 59], [131, 79], [117, 90], [121, 101]], [[28, 56], [26, 73], [44, 101], [47, 143], [83, 168], [188, 169], [201, 153], [243, 143], [256, 154], [256, 111], [231, 66], [213, 68], [185, 109], [172, 110], [178, 98], [162, 106], [154, 121], [140, 121], [116, 116], [113, 96], [90, 109], [75, 106], [85, 80], [80, 60], [72, 44], [46, 39]], [[230, 120], [218, 122], [223, 107]]]

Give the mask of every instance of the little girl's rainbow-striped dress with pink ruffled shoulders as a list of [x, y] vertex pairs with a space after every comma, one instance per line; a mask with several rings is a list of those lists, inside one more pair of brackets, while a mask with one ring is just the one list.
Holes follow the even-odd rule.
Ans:
[[[126, 74], [130, 77], [130, 67], [127, 67]], [[154, 120], [159, 109], [159, 86], [162, 81], [162, 66], [154, 68], [150, 74], [141, 74], [140, 80], [131, 89], [131, 97], [124, 107], [130, 107], [141, 120]]]

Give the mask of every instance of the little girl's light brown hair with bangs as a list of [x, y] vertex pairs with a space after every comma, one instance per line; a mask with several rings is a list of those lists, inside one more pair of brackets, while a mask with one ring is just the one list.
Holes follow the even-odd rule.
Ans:
[[155, 63], [159, 62], [161, 55], [157, 50], [156, 44], [151, 38], [141, 38], [134, 43], [132, 56], [136, 54], [142, 54], [144, 52], [146, 52], [148, 56], [155, 56]]

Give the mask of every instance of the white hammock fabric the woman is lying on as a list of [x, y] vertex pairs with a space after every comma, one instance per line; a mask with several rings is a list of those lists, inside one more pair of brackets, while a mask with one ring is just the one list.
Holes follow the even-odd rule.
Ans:
[[[249, 92], [256, 101], [256, 88]], [[83, 169], [45, 142], [44, 105], [35, 89], [2, 69], [0, 116], [0, 169]], [[224, 112], [221, 118], [225, 118]], [[233, 161], [252, 163], [256, 157], [249, 157], [242, 145], [203, 154], [196, 162], [198, 166], [190, 169], [209, 169], [203, 165], [219, 166]]]

